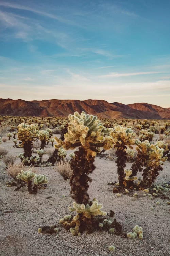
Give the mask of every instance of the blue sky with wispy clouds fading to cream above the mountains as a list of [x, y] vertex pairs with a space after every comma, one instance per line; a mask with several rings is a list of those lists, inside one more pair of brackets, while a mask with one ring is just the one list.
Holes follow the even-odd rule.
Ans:
[[0, 98], [170, 107], [169, 0], [0, 0]]

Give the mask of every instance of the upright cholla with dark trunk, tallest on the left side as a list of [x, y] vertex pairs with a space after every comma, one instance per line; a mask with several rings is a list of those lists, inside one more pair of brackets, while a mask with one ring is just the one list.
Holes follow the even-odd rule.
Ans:
[[18, 125], [18, 140], [22, 141], [21, 146], [24, 149], [24, 157], [31, 157], [32, 155], [32, 141], [38, 137], [38, 124], [27, 125], [21, 123]]

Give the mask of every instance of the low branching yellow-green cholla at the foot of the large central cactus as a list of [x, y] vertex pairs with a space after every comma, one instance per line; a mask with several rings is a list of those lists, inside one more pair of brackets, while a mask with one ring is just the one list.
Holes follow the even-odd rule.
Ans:
[[71, 215], [67, 215], [60, 219], [60, 223], [70, 230], [74, 236], [80, 236], [80, 234], [86, 229], [87, 233], [91, 233], [94, 230], [96, 224], [95, 216], [106, 216], [106, 212], [101, 211], [102, 204], [99, 204], [96, 199], [92, 201], [92, 205], [79, 204], [74, 202], [73, 207], [69, 207], [70, 211], [76, 211], [77, 215], [72, 218]]

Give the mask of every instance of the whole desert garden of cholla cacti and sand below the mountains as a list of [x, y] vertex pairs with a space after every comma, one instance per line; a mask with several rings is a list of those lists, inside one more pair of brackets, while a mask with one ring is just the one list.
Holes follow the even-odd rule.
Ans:
[[169, 120], [0, 116], [0, 255], [168, 255], [169, 168]]

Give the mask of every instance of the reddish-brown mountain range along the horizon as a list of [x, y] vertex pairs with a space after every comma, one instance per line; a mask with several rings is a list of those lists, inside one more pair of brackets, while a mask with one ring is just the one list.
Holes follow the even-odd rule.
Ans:
[[0, 115], [68, 116], [85, 111], [99, 118], [170, 119], [170, 108], [147, 103], [124, 105], [105, 100], [12, 100], [0, 99]]

